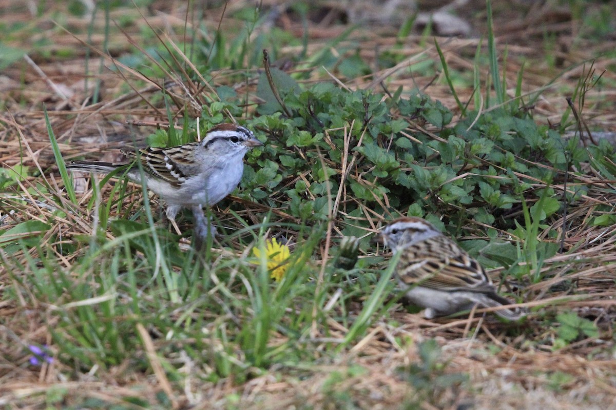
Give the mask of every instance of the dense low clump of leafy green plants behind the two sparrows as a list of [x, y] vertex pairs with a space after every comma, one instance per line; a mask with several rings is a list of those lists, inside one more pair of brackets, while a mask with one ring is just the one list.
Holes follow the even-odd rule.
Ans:
[[[506, 229], [514, 226], [506, 214], [514, 206], [521, 209], [522, 195], [531, 199], [540, 193], [516, 173], [549, 182], [544, 168], [525, 159], [541, 158], [557, 167], [564, 163], [559, 135], [527, 117], [491, 112], [469, 127], [470, 114], [468, 120], [446, 128], [451, 112], [425, 96], [392, 100], [330, 84], [301, 92], [293, 84], [281, 88], [290, 116], [263, 112], [249, 124], [267, 130], [270, 143], [257, 159], [248, 160], [259, 170], [248, 170], [243, 192], [272, 206], [287, 202], [302, 220], [323, 218], [318, 210], [324, 209], [326, 186], [338, 192], [344, 184], [355, 198], [384, 214], [392, 209], [407, 213], [413, 205], [414, 215], [438, 212], [455, 218], [463, 209], [466, 218]], [[266, 106], [280, 108], [270, 94], [260, 97]], [[438, 127], [440, 135], [413, 132], [413, 124]], [[304, 159], [298, 159], [298, 152]], [[341, 175], [349, 159], [359, 172]], [[309, 176], [310, 186], [290, 186], [289, 179], [301, 173]], [[310, 200], [304, 199], [306, 193]], [[385, 199], [390, 208], [383, 207]], [[541, 216], [553, 214], [556, 206], [548, 199]], [[347, 215], [355, 216], [354, 210], [345, 206]]]

